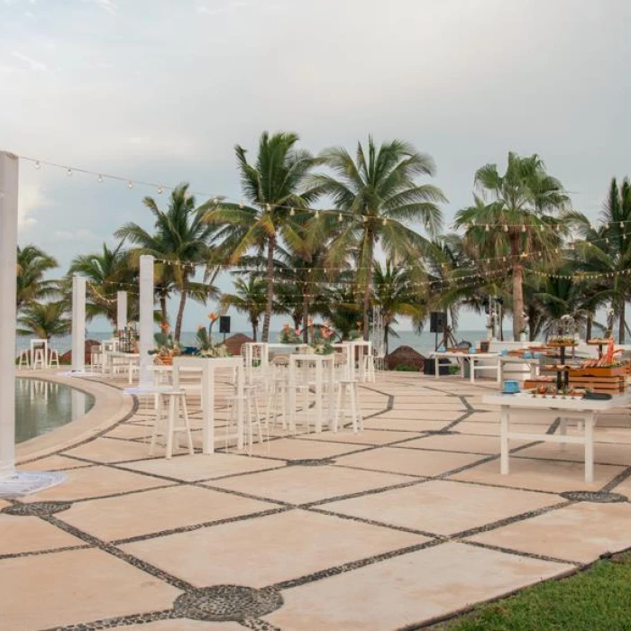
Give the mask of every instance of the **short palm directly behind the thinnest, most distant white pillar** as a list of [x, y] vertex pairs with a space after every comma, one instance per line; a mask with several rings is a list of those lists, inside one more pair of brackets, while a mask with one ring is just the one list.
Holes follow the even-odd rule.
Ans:
[[[104, 242], [101, 251], [76, 256], [70, 262], [68, 273], [69, 276], [80, 274], [87, 279], [87, 291], [90, 296], [90, 302], [86, 305], [87, 321], [97, 315], [104, 315], [115, 328], [116, 292], [127, 290], [128, 286], [138, 286], [137, 270], [133, 270], [129, 252], [123, 250], [123, 243], [119, 243], [112, 250]], [[130, 319], [137, 320], [138, 300], [135, 299], [135, 293], [130, 293]]]

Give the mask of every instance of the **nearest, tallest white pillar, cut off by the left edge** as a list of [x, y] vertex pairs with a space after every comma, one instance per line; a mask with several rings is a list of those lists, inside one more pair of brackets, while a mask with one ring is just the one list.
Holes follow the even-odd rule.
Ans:
[[0, 151], [0, 479], [15, 463], [15, 266], [18, 158]]

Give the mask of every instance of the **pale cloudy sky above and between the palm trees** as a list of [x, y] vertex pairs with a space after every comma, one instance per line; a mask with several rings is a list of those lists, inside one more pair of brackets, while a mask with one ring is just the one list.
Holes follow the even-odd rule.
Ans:
[[[264, 130], [314, 152], [400, 138], [434, 157], [445, 224], [476, 169], [536, 152], [596, 218], [631, 173], [630, 19], [626, 0], [0, 0], [0, 149], [238, 199], [234, 145]], [[19, 242], [65, 271], [150, 228], [145, 195], [23, 161]]]

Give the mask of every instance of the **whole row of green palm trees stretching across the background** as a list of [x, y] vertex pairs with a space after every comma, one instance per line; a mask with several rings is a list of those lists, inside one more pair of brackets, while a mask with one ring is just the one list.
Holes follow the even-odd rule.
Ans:
[[[256, 154], [235, 147], [242, 202], [215, 198], [197, 204], [186, 183], [165, 206], [143, 205], [153, 224], [130, 222], [115, 231], [115, 247], [79, 254], [63, 279], [50, 279], [57, 261], [37, 246], [18, 249], [18, 333], [69, 332], [72, 274], [87, 278], [87, 319], [115, 326], [118, 290], [130, 292], [137, 319], [139, 259], [151, 254], [158, 319], [169, 321], [177, 299], [174, 336], [180, 339], [187, 301], [247, 315], [252, 336], [270, 337], [273, 314], [307, 334], [310, 318], [330, 321], [341, 338], [368, 339], [378, 313], [384, 341], [397, 318], [421, 331], [434, 310], [458, 326], [463, 308], [481, 313], [485, 298], [503, 298], [515, 339], [544, 334], [572, 315], [588, 336], [617, 321], [624, 343], [631, 285], [631, 185], [614, 178], [597, 222], [572, 209], [559, 179], [538, 155], [508, 154], [505, 169], [482, 166], [473, 203], [444, 230], [444, 192], [427, 180], [431, 156], [408, 142], [370, 137], [354, 152], [338, 147], [313, 155], [296, 133], [262, 133]], [[628, 232], [628, 234], [627, 234]], [[201, 273], [200, 273], [201, 270]], [[215, 285], [231, 270], [233, 291]], [[596, 321], [608, 310], [608, 325]], [[261, 326], [261, 335], [259, 327]]]

